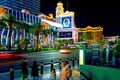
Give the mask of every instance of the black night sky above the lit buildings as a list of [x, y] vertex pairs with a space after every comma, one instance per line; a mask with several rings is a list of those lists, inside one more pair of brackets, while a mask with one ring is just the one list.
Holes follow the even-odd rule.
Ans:
[[41, 12], [53, 13], [61, 1], [64, 11], [75, 12], [75, 23], [78, 28], [102, 26], [105, 36], [120, 35], [120, 4], [115, 0], [41, 0]]

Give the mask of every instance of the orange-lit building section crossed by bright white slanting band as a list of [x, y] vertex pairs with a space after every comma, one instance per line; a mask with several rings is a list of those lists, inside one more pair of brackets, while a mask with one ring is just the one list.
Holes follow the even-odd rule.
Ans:
[[[41, 23], [44, 26], [44, 28], [49, 29], [53, 28], [55, 31], [57, 31], [59, 28], [62, 28], [62, 24], [56, 23], [56, 19], [53, 17], [53, 14], [49, 14], [48, 16], [45, 14], [40, 14], [39, 18], [41, 18]], [[53, 44], [54, 40], [57, 38], [54, 37], [54, 35], [48, 34], [48, 37], [44, 36], [44, 43]]]

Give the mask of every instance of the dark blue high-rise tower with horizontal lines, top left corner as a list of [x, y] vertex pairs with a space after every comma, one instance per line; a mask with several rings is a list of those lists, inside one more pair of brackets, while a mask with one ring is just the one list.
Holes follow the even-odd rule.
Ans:
[[40, 0], [0, 0], [0, 5], [19, 11], [27, 10], [34, 15], [40, 13]]

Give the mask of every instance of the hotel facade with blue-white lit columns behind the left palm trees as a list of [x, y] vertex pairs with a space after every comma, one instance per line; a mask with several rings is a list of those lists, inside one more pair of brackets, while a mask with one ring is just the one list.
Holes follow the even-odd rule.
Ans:
[[[0, 6], [0, 17], [6, 17], [7, 14], [11, 14], [13, 16], [16, 17], [16, 21], [22, 21], [22, 22], [26, 22], [28, 24], [35, 24], [38, 22], [41, 22], [41, 19], [38, 16], [29, 14], [29, 12], [21, 12], [19, 10], [14, 10], [8, 7], [3, 7]], [[23, 31], [23, 32], [22, 32]], [[27, 33], [24, 30], [21, 30], [20, 34], [20, 39], [27, 37]], [[0, 31], [0, 44], [1, 45], [7, 45], [8, 44], [8, 34], [9, 34], [9, 30], [6, 29], [5, 27], [3, 27], [3, 29]], [[33, 35], [31, 35], [32, 37]], [[13, 30], [12, 32], [12, 44], [14, 44], [14, 41], [18, 39], [18, 30]]]

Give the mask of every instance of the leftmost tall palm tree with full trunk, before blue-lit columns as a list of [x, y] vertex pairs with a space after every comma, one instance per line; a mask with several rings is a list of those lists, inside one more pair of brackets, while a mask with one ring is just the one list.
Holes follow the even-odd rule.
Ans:
[[18, 23], [16, 21], [15, 16], [12, 16], [11, 14], [8, 14], [7, 17], [2, 17], [2, 20], [4, 23], [7, 25], [9, 29], [9, 35], [8, 35], [8, 50], [11, 50], [11, 35], [12, 35], [12, 30], [15, 27], [15, 25]]

